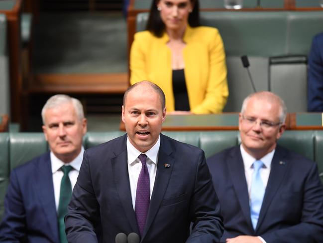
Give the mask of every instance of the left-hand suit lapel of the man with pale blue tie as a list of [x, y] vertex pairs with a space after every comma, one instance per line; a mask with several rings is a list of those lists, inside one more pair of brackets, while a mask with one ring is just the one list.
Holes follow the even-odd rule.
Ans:
[[232, 149], [232, 151], [230, 152], [230, 158], [227, 158], [226, 164], [228, 166], [228, 171], [233, 183], [235, 193], [237, 195], [237, 200], [239, 201], [242, 210], [242, 214], [246, 222], [252, 229], [248, 187], [239, 146], [236, 146]]

